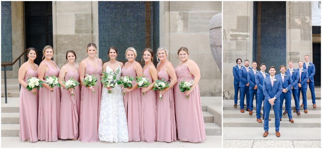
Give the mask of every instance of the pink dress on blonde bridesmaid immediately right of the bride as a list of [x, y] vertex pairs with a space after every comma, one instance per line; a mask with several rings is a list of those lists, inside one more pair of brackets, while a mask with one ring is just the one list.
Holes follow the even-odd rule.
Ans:
[[[134, 66], [134, 65], [133, 65]], [[134, 71], [133, 66], [125, 69], [122, 68], [122, 76], [130, 76], [135, 78], [137, 73]], [[136, 81], [132, 81], [132, 86]], [[123, 95], [123, 94], [122, 94]], [[141, 90], [136, 88], [127, 92], [124, 99], [125, 114], [128, 119], [128, 141], [141, 141], [140, 127], [141, 127]]]

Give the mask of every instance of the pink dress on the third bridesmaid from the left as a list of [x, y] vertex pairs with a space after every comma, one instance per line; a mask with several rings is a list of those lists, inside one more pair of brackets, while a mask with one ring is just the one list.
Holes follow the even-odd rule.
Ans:
[[[67, 65], [68, 67], [68, 65]], [[65, 81], [73, 77], [74, 80], [80, 82], [80, 75], [77, 71], [73, 72], [68, 68], [65, 75]], [[60, 112], [60, 129], [59, 134], [61, 139], [75, 139], [79, 136], [79, 117], [81, 112], [81, 90], [79, 85], [75, 87], [74, 96], [71, 96], [70, 91], [63, 88], [61, 98]]]

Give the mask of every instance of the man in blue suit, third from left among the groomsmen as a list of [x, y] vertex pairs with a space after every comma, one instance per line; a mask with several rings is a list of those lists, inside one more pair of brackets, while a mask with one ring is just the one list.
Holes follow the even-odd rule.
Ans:
[[257, 63], [256, 61], [253, 61], [251, 63], [251, 66], [253, 67], [253, 69], [251, 69], [251, 71], [248, 71], [247, 73], [247, 81], [249, 83], [249, 115], [251, 115], [253, 113], [253, 101], [254, 101], [254, 96], [255, 96], [255, 101], [256, 101], [256, 105], [257, 105], [257, 85], [255, 82], [255, 75], [256, 73], [258, 73], [258, 70], [256, 70], [257, 67]]

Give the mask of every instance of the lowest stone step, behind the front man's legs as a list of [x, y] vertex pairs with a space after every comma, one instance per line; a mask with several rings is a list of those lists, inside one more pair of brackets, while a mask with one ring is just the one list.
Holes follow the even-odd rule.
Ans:
[[[275, 118], [269, 121], [269, 127], [275, 127]], [[289, 122], [288, 117], [282, 117], [280, 127], [321, 127], [321, 118], [296, 118], [293, 117], [294, 123]], [[263, 127], [264, 121], [258, 123], [254, 118], [223, 118], [223, 126], [225, 127]]]

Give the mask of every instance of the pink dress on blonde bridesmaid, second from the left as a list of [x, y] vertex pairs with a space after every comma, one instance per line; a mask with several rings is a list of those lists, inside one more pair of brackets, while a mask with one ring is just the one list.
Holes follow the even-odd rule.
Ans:
[[[55, 64], [56, 69], [49, 65], [46, 61], [48, 71], [45, 76], [58, 77], [60, 69]], [[59, 113], [60, 113], [61, 88], [55, 86], [53, 92], [43, 87], [39, 89], [39, 108], [38, 108], [38, 140], [41, 141], [57, 141], [59, 137]]]

